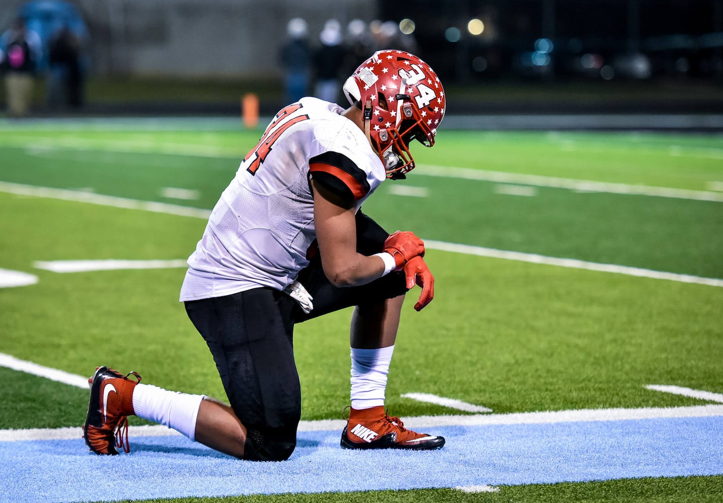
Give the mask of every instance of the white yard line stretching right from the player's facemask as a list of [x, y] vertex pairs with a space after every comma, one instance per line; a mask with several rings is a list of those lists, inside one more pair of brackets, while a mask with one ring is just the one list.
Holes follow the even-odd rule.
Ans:
[[688, 189], [671, 189], [648, 185], [615, 184], [607, 181], [591, 181], [557, 178], [555, 176], [526, 175], [523, 173], [505, 173], [504, 171], [485, 171], [474, 168], [455, 168], [453, 166], [418, 165], [414, 175], [439, 176], [463, 180], [495, 181], [500, 184], [522, 184], [555, 189], [570, 189], [578, 192], [607, 192], [609, 194], [629, 194], [636, 196], [673, 197], [676, 199], [695, 199], [698, 201], [723, 202], [720, 192]]

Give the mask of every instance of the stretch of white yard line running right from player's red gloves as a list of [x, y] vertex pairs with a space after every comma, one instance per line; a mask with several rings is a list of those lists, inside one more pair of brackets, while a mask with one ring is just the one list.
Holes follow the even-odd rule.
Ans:
[[675, 272], [654, 271], [641, 269], [639, 267], [628, 267], [625, 265], [599, 264], [597, 262], [586, 262], [578, 259], [560, 259], [556, 257], [545, 257], [534, 253], [523, 253], [522, 251], [505, 251], [483, 246], [471, 246], [469, 244], [445, 243], [444, 241], [424, 240], [427, 249], [440, 251], [452, 251], [454, 253], [477, 255], [478, 257], [492, 257], [495, 259], [518, 260], [519, 262], [531, 262], [533, 264], [557, 265], [570, 267], [572, 269], [585, 269], [599, 272], [613, 272], [640, 278], [653, 278], [656, 280], [678, 281], [680, 283], [697, 283], [698, 285], [709, 285], [723, 287], [723, 280], [717, 278], [701, 278]]

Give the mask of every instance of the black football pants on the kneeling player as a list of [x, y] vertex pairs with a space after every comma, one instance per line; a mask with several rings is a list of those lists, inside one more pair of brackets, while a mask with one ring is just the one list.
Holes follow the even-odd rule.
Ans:
[[[381, 251], [388, 233], [361, 212], [356, 220], [359, 252]], [[273, 288], [185, 303], [213, 354], [231, 408], [247, 428], [244, 459], [286, 460], [296, 447], [301, 386], [294, 361], [294, 324], [406, 292], [403, 272], [367, 285], [337, 288], [324, 275], [319, 254], [297, 279], [314, 298], [310, 314]]]

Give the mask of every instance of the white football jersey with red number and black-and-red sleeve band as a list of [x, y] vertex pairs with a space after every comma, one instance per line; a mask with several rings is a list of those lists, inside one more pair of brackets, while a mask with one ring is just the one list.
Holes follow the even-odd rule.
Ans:
[[311, 178], [356, 209], [386, 179], [359, 126], [334, 103], [283, 108], [221, 194], [181, 287], [181, 301], [268, 286], [283, 290], [309, 264], [316, 238]]

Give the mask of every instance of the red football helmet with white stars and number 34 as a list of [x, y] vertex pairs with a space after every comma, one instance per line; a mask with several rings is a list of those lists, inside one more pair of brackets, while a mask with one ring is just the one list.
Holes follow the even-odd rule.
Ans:
[[411, 140], [435, 145], [445, 115], [445, 92], [427, 63], [404, 51], [377, 51], [344, 83], [350, 103], [361, 103], [364, 131], [387, 170], [404, 178], [414, 169]]

